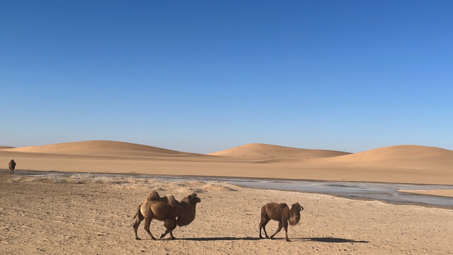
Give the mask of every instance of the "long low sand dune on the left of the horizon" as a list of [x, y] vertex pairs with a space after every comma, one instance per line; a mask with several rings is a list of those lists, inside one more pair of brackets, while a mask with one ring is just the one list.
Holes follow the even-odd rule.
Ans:
[[[54, 145], [29, 146], [13, 149], [4, 149], [8, 152], [36, 152], [47, 154], [96, 154], [96, 155], [196, 155], [178, 152], [171, 149], [162, 149], [147, 145], [138, 145], [130, 142], [115, 142], [107, 140], [64, 142]], [[201, 156], [201, 155], [200, 155]]]

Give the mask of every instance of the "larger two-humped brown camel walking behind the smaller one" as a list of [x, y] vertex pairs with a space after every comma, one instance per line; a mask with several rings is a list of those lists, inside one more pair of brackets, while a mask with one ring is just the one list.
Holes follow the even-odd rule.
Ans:
[[[161, 235], [161, 238], [170, 233], [171, 239], [175, 239], [173, 237], [173, 229], [176, 228], [178, 222], [187, 223], [185, 225], [188, 225], [195, 219], [195, 205], [200, 203], [200, 201], [200, 198], [197, 198], [195, 193], [189, 194], [180, 203], [171, 195], [161, 198], [159, 193], [151, 191], [135, 212], [135, 239], [140, 239], [137, 235], [137, 229], [142, 220], [144, 220], [144, 229], [148, 232], [151, 239], [156, 239], [149, 231], [149, 225], [151, 225], [151, 220], [153, 219], [164, 221], [166, 232]], [[178, 220], [176, 220], [176, 217], [178, 217]]]

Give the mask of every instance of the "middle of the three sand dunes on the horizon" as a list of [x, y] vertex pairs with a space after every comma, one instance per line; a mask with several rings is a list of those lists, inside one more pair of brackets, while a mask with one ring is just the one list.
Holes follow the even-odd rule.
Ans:
[[210, 155], [227, 157], [275, 157], [297, 159], [336, 157], [345, 154], [349, 154], [349, 152], [338, 152], [324, 149], [298, 149], [278, 145], [265, 145], [260, 143], [242, 145], [231, 149], [225, 149], [220, 152], [210, 153]]

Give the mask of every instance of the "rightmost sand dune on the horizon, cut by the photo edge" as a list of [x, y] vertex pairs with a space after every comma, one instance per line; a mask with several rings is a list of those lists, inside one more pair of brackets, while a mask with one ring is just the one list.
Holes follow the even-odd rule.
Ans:
[[351, 166], [452, 169], [453, 151], [420, 145], [398, 145], [333, 157], [326, 159], [326, 162]]

